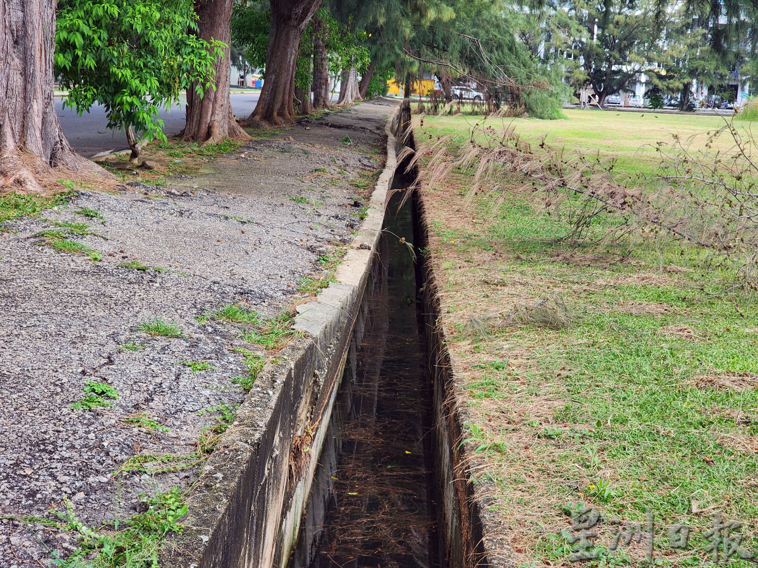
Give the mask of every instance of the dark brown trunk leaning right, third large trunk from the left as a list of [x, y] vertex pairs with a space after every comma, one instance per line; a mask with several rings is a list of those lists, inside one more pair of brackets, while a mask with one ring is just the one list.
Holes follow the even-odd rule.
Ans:
[[251, 126], [273, 126], [293, 119], [295, 65], [300, 39], [321, 0], [271, 0], [271, 27], [266, 51], [266, 75]]

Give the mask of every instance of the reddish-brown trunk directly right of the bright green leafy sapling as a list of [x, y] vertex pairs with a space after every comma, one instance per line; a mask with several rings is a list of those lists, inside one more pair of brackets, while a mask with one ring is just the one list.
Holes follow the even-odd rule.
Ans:
[[249, 140], [250, 136], [236, 123], [229, 100], [229, 45], [231, 44], [231, 17], [233, 0], [195, 0], [198, 15], [198, 35], [210, 42], [224, 42], [223, 55], [216, 58], [215, 89], [205, 89], [201, 97], [196, 84], [187, 89], [186, 126], [183, 139], [186, 142], [211, 144], [224, 138]]

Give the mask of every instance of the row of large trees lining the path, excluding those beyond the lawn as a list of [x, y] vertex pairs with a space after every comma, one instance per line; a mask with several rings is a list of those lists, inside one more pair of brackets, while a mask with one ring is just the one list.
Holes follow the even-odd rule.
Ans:
[[0, 42], [2, 186], [39, 189], [34, 180], [55, 177], [55, 167], [105, 175], [67, 143], [55, 77], [68, 90], [65, 105], [105, 107], [133, 158], [140, 139], [164, 136], [158, 109], [183, 92], [184, 139], [245, 138], [229, 100], [233, 39], [265, 70], [242, 126], [328, 106], [330, 76], [341, 76], [340, 103], [364, 97], [372, 81], [377, 90], [389, 73], [406, 86], [437, 73], [446, 92], [462, 76], [493, 76], [517, 93], [546, 86], [546, 68], [515, 38], [505, 8], [502, 0], [0, 0], [0, 37], [12, 38]]

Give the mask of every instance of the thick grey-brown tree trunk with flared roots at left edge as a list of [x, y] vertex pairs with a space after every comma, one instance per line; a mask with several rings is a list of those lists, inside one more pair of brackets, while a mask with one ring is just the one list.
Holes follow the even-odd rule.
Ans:
[[42, 191], [51, 168], [111, 176], [69, 145], [53, 99], [56, 0], [0, 0], [0, 189]]

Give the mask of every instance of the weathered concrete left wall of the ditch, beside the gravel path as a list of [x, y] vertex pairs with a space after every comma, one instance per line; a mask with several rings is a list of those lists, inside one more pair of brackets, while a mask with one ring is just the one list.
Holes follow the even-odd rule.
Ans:
[[387, 163], [337, 282], [297, 307], [293, 328], [302, 336], [255, 381], [271, 397], [268, 404], [248, 398], [237, 410], [189, 495], [183, 533], [171, 535], [161, 548], [161, 566], [287, 566], [384, 224], [395, 134], [402, 131], [399, 116], [385, 127]]

